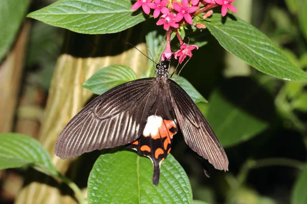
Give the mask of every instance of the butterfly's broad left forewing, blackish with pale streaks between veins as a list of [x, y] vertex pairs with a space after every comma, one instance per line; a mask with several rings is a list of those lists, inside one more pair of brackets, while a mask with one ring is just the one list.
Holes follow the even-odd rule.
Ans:
[[64, 127], [55, 145], [61, 159], [138, 139], [155, 103], [155, 78], [119, 85], [95, 98]]

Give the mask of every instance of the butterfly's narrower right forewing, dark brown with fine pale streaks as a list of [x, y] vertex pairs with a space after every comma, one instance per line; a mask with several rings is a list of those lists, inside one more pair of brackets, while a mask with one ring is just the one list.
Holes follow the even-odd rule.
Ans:
[[190, 96], [168, 79], [171, 104], [185, 142], [216, 169], [228, 170], [228, 159], [207, 120]]

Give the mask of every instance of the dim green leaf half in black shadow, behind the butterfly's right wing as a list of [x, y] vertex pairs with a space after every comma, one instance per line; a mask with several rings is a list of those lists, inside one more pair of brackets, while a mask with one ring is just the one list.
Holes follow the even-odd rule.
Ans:
[[[261, 103], [258, 103], [259, 99]], [[261, 133], [274, 115], [269, 93], [248, 78], [230, 79], [213, 91], [209, 101], [206, 119], [223, 147], [236, 145]]]

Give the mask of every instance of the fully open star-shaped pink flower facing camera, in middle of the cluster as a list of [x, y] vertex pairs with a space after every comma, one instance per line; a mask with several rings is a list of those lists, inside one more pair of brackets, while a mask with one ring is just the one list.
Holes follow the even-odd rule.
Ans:
[[176, 10], [178, 13], [176, 14], [176, 22], [181, 21], [183, 18], [189, 23], [193, 24], [192, 17], [190, 16], [190, 13], [194, 13], [199, 9], [199, 7], [191, 6], [188, 7], [188, 0], [182, 0], [182, 6], [180, 4], [174, 3], [172, 4], [174, 10]]

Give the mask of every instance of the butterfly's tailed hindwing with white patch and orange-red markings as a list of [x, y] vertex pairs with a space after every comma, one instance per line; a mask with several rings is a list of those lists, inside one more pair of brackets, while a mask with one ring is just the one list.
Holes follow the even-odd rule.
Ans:
[[173, 140], [178, 132], [174, 121], [168, 91], [160, 87], [155, 104], [146, 120], [143, 134], [136, 141], [127, 145], [138, 151], [139, 155], [148, 157], [153, 164], [152, 183], [158, 185], [160, 165], [166, 159]]

